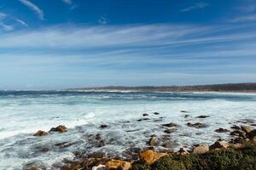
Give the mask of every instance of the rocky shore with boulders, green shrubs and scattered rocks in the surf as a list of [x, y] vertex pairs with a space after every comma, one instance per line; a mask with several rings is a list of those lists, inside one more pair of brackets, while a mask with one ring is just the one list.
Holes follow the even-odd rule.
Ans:
[[[187, 113], [186, 111], [181, 111]], [[154, 112], [154, 115], [160, 113]], [[187, 117], [189, 115], [185, 115]], [[144, 118], [138, 119], [137, 122], [148, 121], [148, 114], [143, 114]], [[198, 119], [205, 119], [207, 116], [198, 116]], [[161, 119], [161, 117], [159, 118]], [[230, 133], [230, 140], [217, 139], [213, 144], [195, 144], [194, 146], [184, 146], [179, 150], [156, 150], [157, 146], [168, 148], [170, 133], [175, 131], [179, 125], [170, 122], [160, 124], [164, 129], [166, 136], [164, 138], [157, 134], [148, 138], [148, 148], [140, 149], [137, 146], [129, 149], [130, 159], [122, 159], [121, 157], [109, 157], [102, 152], [95, 152], [84, 155], [82, 151], [74, 154], [73, 161], [63, 160], [61, 170], [190, 170], [190, 169], [256, 169], [256, 129], [253, 121], [247, 120], [244, 125], [232, 125], [230, 129], [219, 127], [215, 133]], [[250, 125], [247, 125], [250, 123]], [[204, 128], [207, 124], [201, 122], [187, 122], [188, 127]], [[102, 124], [101, 129], [108, 128], [108, 125]], [[52, 127], [49, 132], [39, 130], [33, 135], [37, 138], [51, 135], [51, 133], [66, 133], [67, 127], [60, 125]], [[101, 134], [91, 135], [88, 137], [96, 147], [102, 147], [107, 141], [102, 138]], [[161, 141], [160, 141], [161, 140]], [[66, 148], [72, 145], [68, 142], [55, 144], [60, 148]], [[42, 152], [47, 152], [44, 147], [39, 148]], [[39, 170], [44, 169], [40, 165], [26, 165], [24, 169]], [[53, 168], [55, 169], [55, 168]]]

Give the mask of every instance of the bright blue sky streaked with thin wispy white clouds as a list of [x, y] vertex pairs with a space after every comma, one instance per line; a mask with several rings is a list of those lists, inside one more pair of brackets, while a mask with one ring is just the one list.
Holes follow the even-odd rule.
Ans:
[[256, 82], [256, 0], [0, 0], [0, 89]]

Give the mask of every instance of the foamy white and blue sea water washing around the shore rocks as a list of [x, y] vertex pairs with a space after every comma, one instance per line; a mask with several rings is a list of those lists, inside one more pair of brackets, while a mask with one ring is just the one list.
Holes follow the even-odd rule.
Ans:
[[[148, 116], [143, 116], [145, 113]], [[138, 121], [145, 117], [148, 120]], [[59, 169], [64, 159], [73, 160], [78, 152], [129, 158], [131, 150], [147, 148], [153, 134], [160, 139], [156, 150], [212, 144], [230, 138], [229, 133], [216, 133], [215, 129], [255, 124], [255, 117], [256, 94], [1, 91], [0, 169], [22, 169], [33, 163]], [[177, 127], [167, 134], [162, 124], [169, 122]], [[207, 127], [188, 127], [187, 122], [202, 122]], [[102, 124], [108, 127], [102, 129]], [[32, 136], [39, 129], [49, 131], [58, 125], [65, 125], [67, 132]], [[103, 145], [95, 144], [96, 134], [104, 139]], [[161, 140], [166, 136], [169, 138]], [[56, 145], [63, 142], [69, 145]]]

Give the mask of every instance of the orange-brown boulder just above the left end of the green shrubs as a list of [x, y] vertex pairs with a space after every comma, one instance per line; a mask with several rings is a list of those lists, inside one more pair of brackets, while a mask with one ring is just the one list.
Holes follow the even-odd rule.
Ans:
[[140, 160], [146, 161], [148, 165], [151, 165], [154, 163], [154, 161], [157, 161], [162, 156], [166, 156], [166, 153], [157, 153], [153, 150], [144, 150], [143, 152], [139, 153]]

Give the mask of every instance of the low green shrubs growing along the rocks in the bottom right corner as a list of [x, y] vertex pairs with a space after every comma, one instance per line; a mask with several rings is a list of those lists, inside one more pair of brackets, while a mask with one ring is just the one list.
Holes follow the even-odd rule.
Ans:
[[203, 155], [164, 156], [153, 165], [142, 161], [133, 164], [132, 170], [255, 170], [256, 147], [241, 150], [216, 150]]

